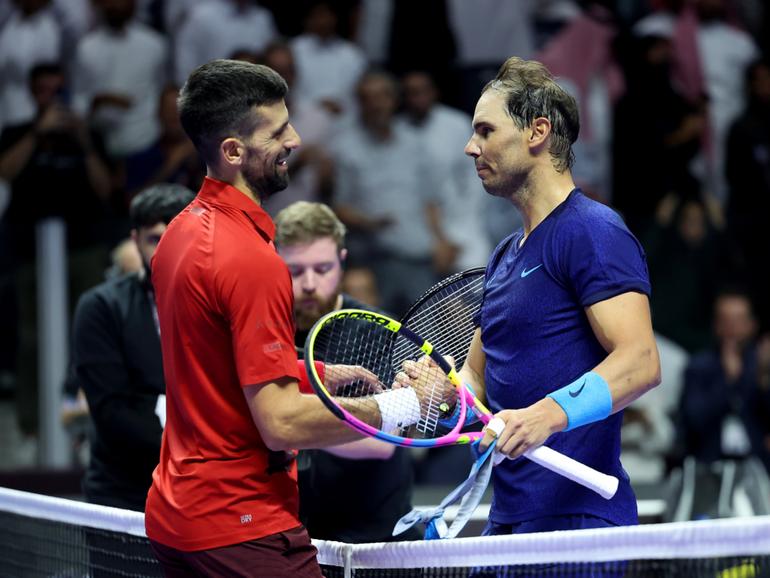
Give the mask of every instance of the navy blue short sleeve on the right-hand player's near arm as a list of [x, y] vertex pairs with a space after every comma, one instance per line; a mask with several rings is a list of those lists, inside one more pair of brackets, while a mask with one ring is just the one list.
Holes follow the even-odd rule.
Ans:
[[650, 295], [644, 249], [610, 209], [571, 219], [551, 248], [583, 307], [635, 291]]

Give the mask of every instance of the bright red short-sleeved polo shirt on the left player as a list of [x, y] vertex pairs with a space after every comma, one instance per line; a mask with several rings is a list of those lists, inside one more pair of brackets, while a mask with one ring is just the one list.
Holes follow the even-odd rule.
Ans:
[[267, 449], [242, 390], [297, 377], [291, 277], [274, 233], [253, 201], [206, 178], [153, 258], [167, 408], [145, 524], [179, 550], [300, 524], [293, 456]]

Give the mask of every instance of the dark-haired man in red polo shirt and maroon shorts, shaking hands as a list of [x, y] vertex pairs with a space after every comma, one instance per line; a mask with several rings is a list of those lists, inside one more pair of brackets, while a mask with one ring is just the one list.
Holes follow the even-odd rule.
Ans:
[[298, 389], [292, 281], [261, 208], [300, 145], [286, 91], [270, 68], [215, 60], [179, 97], [208, 176], [152, 265], [167, 421], [146, 529], [167, 576], [321, 576], [293, 450], [360, 437]]

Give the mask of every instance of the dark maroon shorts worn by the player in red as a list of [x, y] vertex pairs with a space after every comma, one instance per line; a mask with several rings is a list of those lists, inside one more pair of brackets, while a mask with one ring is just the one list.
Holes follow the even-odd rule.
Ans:
[[323, 578], [316, 560], [318, 550], [307, 530], [299, 526], [258, 540], [232, 546], [183, 552], [150, 540], [166, 578], [281, 577]]

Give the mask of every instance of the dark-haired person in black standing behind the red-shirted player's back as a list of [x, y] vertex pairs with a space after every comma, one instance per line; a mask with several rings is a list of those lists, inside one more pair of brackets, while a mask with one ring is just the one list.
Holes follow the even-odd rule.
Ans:
[[83, 491], [94, 504], [144, 511], [166, 390], [150, 261], [168, 223], [194, 196], [180, 185], [156, 185], [134, 197], [131, 237], [143, 269], [87, 291], [75, 311], [75, 378], [94, 426]]

